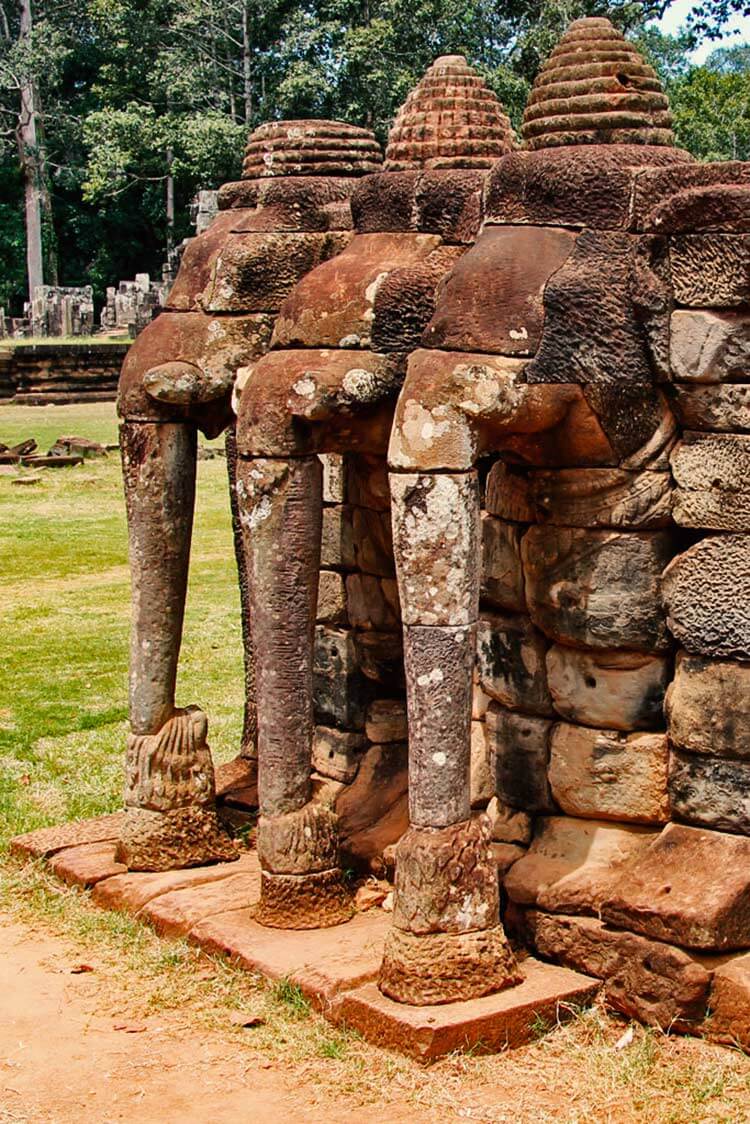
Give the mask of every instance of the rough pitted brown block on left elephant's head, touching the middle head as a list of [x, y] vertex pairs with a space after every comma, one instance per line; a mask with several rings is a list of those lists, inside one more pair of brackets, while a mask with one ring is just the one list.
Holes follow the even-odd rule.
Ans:
[[209, 312], [275, 311], [297, 282], [341, 253], [346, 232], [236, 234], [219, 250], [200, 298]]

